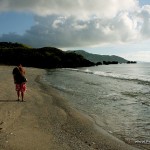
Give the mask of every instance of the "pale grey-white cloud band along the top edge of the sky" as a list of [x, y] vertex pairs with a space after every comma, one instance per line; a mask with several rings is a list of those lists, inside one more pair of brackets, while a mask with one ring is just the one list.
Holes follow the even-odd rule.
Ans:
[[137, 0], [1, 0], [0, 11], [30, 11], [36, 15], [112, 17], [118, 11], [137, 9]]

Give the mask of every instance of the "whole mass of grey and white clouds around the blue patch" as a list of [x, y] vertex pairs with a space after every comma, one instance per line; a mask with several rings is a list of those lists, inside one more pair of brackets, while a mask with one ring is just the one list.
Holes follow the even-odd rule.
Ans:
[[137, 0], [1, 0], [0, 11], [35, 14], [36, 24], [24, 35], [0, 37], [33, 47], [98, 46], [150, 37], [150, 6], [141, 8]]

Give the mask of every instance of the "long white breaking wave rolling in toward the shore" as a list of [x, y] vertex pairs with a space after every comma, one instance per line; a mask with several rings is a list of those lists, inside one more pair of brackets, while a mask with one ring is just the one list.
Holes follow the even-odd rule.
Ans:
[[77, 71], [77, 72], [82, 72], [82, 73], [88, 73], [88, 74], [94, 74], [98, 76], [103, 76], [103, 77], [111, 77], [111, 78], [116, 78], [116, 79], [124, 79], [124, 80], [137, 80], [141, 82], [146, 82], [146, 84], [150, 84], [150, 78], [149, 76], [145, 75], [132, 75], [132, 74], [119, 74], [119, 73], [113, 73], [113, 72], [103, 72], [103, 71], [92, 71], [90, 69], [72, 69], [72, 68], [63, 68], [65, 70], [70, 70], [70, 71]]

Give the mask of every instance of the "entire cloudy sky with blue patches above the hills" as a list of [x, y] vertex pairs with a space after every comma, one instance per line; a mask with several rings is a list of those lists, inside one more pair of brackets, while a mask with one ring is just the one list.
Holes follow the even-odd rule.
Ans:
[[0, 42], [150, 62], [150, 0], [0, 0]]

